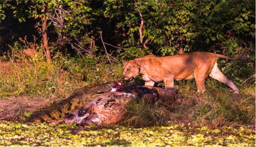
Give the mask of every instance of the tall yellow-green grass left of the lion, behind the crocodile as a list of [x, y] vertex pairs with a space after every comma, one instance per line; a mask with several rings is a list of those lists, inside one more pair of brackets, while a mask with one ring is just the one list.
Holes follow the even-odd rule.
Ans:
[[40, 49], [35, 56], [17, 46], [11, 50], [12, 60], [0, 62], [0, 99], [21, 94], [58, 99], [87, 84], [120, 80], [121, 64], [109, 64], [104, 58], [55, 53], [49, 63]]

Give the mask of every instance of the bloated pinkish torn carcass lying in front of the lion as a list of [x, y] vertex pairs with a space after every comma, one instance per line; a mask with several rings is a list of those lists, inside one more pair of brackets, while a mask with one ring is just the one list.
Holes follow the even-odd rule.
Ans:
[[[96, 87], [99, 87], [99, 85], [97, 85]], [[98, 95], [91, 97], [89, 96], [90, 101], [84, 102], [83, 100], [82, 105], [72, 107], [73, 111], [70, 112], [69, 110], [68, 113], [65, 113], [64, 117], [62, 117], [61, 115], [59, 117], [52, 118], [52, 115], [54, 115], [55, 113], [60, 113], [58, 109], [61, 109], [61, 106], [56, 105], [56, 102], [52, 105], [52, 109], [51, 107], [47, 107], [47, 111], [45, 111], [45, 108], [43, 108], [42, 110], [40, 110], [41, 113], [39, 113], [40, 111], [38, 111], [33, 114], [33, 117], [39, 118], [39, 120], [55, 123], [65, 122], [85, 125], [106, 125], [119, 122], [124, 116], [126, 103], [132, 99], [143, 98], [152, 101], [157, 101], [160, 97], [168, 97], [173, 99], [177, 92], [178, 90], [175, 88], [162, 89], [156, 87], [135, 85], [125, 87], [121, 82], [115, 82], [115, 84], [112, 83], [112, 88], [108, 89], [107, 92], [101, 92], [98, 93]], [[60, 108], [57, 108], [57, 106]], [[51, 113], [51, 110], [55, 110], [55, 113]], [[67, 108], [65, 108], [65, 110], [67, 110]], [[36, 117], [36, 114], [40, 115]], [[49, 115], [51, 117], [49, 117]], [[52, 120], [50, 118], [52, 118]]]

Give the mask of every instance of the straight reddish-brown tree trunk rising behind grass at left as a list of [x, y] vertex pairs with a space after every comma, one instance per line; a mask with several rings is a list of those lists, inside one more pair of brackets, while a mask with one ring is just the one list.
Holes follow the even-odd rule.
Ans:
[[[45, 12], [45, 3], [43, 3], [43, 13]], [[42, 18], [42, 33], [43, 33], [43, 47], [45, 49], [46, 53], [46, 59], [47, 61], [51, 61], [51, 55], [50, 55], [50, 50], [48, 46], [48, 37], [47, 37], [47, 18], [44, 16]]]

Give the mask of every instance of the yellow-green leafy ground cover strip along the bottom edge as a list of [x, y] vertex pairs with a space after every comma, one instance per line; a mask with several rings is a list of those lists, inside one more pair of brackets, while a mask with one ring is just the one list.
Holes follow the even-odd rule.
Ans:
[[0, 122], [1, 146], [255, 146], [250, 127], [123, 126]]

